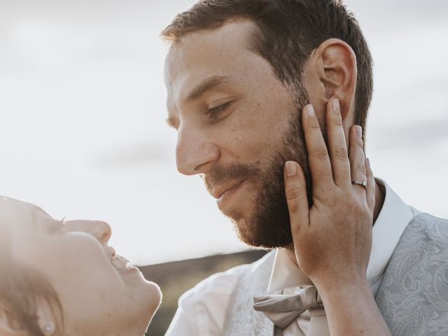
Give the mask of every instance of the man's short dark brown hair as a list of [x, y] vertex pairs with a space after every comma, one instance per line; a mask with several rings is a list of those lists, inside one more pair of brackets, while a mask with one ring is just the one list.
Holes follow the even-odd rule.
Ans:
[[253, 48], [272, 65], [286, 85], [302, 85], [311, 52], [329, 38], [351, 46], [358, 64], [353, 123], [365, 128], [372, 99], [372, 56], [353, 13], [340, 0], [200, 0], [162, 31], [176, 43], [189, 32], [221, 27], [228, 20], [255, 22]]

